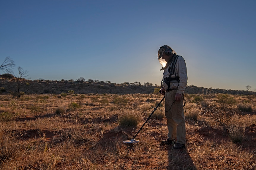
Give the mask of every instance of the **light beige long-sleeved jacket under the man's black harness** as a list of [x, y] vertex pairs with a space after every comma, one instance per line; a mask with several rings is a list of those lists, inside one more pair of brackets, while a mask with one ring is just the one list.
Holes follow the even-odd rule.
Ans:
[[[170, 73], [168, 69], [170, 67], [170, 64], [165, 67], [163, 78], [169, 77]], [[175, 73], [177, 77], [180, 77], [180, 80], [179, 80], [180, 82], [170, 83], [170, 89], [178, 87], [177, 93], [182, 94], [184, 93], [184, 90], [187, 87], [187, 80], [188, 80], [187, 66], [182, 56], [178, 57], [177, 62], [175, 64], [175, 72], [173, 72], [173, 75], [171, 75], [171, 77], [175, 77]], [[168, 88], [168, 85], [165, 82], [163, 82], [163, 88], [165, 89]]]

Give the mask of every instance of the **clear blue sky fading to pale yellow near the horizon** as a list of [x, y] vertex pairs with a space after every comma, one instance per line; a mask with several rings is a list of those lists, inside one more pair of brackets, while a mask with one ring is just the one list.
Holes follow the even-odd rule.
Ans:
[[[0, 62], [31, 80], [160, 85], [160, 46], [187, 64], [188, 85], [256, 89], [256, 1], [0, 0]], [[3, 74], [4, 72], [0, 72]]]

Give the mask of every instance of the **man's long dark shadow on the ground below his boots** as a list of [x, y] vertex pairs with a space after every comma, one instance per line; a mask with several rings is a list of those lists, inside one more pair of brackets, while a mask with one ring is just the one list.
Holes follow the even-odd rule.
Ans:
[[172, 147], [168, 147], [168, 166], [167, 170], [196, 170], [191, 157], [187, 153], [187, 149], [176, 149], [173, 150]]

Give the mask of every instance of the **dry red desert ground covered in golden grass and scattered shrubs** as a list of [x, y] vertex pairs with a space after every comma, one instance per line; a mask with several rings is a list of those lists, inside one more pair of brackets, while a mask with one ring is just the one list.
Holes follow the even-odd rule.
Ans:
[[[256, 169], [256, 95], [186, 93], [186, 148], [173, 150], [159, 143], [168, 132], [159, 87], [128, 86], [42, 87], [20, 98], [2, 90], [0, 169]], [[123, 143], [154, 109], [140, 142]]]

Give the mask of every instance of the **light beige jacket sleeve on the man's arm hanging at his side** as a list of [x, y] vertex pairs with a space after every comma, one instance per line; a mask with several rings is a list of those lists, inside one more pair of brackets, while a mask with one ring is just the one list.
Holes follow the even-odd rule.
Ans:
[[187, 66], [183, 57], [178, 58], [177, 63], [175, 65], [175, 72], [176, 72], [176, 75], [180, 77], [177, 93], [182, 94], [185, 88], [187, 87], [187, 81], [188, 81]]

